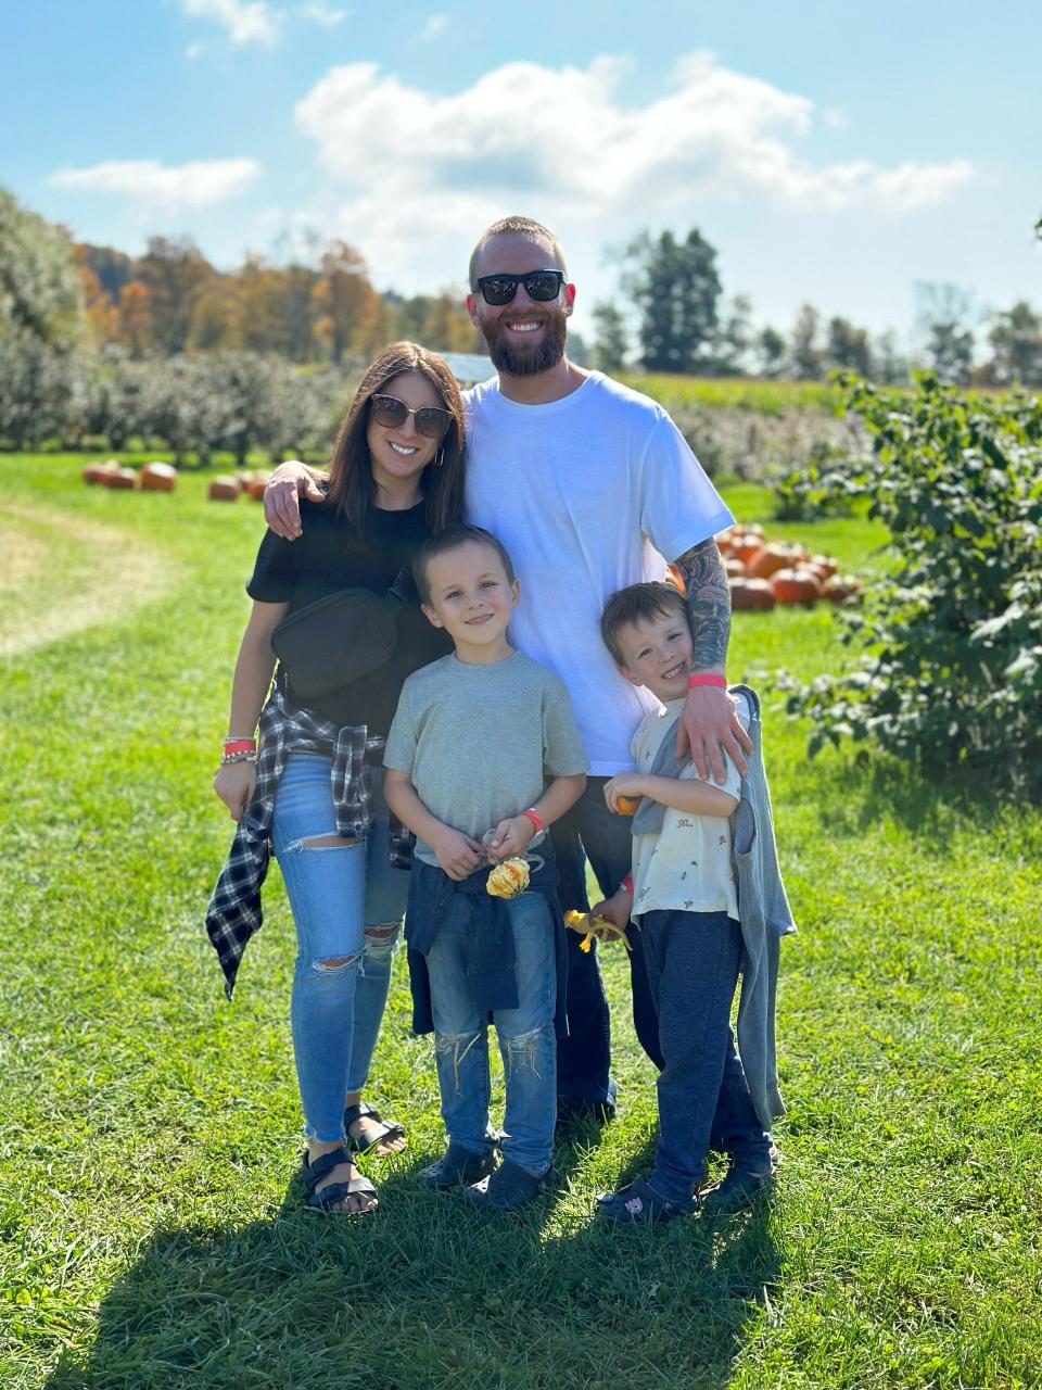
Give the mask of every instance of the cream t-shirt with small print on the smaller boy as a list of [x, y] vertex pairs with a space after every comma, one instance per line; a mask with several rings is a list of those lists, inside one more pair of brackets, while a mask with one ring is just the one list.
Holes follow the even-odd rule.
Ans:
[[[632, 755], [639, 773], [650, 773], [663, 738], [671, 733], [682, 699], [670, 701], [645, 714], [634, 734]], [[738, 717], [749, 727], [749, 710], [738, 699]], [[742, 778], [725, 756], [721, 790], [741, 795]], [[697, 777], [693, 763], [681, 778]], [[711, 783], [711, 785], [718, 785]], [[731, 823], [721, 816], [695, 816], [665, 806], [659, 834], [634, 835], [634, 910], [645, 912], [727, 912], [738, 920], [738, 891], [731, 863]]]

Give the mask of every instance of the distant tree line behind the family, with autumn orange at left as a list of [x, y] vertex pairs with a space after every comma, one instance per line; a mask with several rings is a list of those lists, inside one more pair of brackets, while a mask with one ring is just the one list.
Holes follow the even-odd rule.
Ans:
[[[829, 368], [903, 382], [893, 335], [874, 338], [804, 306], [785, 335], [752, 327], [724, 296], [716, 249], [697, 229], [645, 232], [618, 254], [620, 291], [595, 306], [593, 360], [609, 371], [813, 379]], [[358, 367], [393, 338], [482, 350], [458, 292], [379, 293], [345, 242], [310, 263], [247, 257], [217, 271], [186, 239], [143, 256], [76, 245], [0, 189], [0, 441], [163, 441], [175, 456], [214, 449], [324, 449]], [[924, 286], [923, 357], [939, 379], [1042, 384], [1042, 324], [1025, 302], [992, 316], [991, 356], [974, 364], [967, 300]], [[585, 349], [575, 335], [577, 360]]]

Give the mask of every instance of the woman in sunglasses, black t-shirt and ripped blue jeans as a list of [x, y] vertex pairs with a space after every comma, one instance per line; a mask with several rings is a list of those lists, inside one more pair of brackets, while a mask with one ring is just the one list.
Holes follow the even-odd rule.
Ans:
[[307, 1134], [301, 1177], [320, 1211], [374, 1211], [375, 1188], [352, 1154], [402, 1147], [402, 1126], [361, 1102], [408, 891], [407, 874], [392, 866], [379, 760], [402, 681], [447, 648], [407, 605], [385, 666], [306, 705], [282, 667], [268, 694], [271, 637], [288, 613], [329, 594], [383, 594], [432, 531], [458, 520], [463, 468], [456, 378], [433, 353], [393, 343], [340, 424], [326, 502], [301, 505], [297, 541], [265, 534], [247, 584], [253, 610], [214, 778], [239, 830], [207, 929], [231, 995], [260, 926], [270, 837], [297, 930], [290, 1017]]

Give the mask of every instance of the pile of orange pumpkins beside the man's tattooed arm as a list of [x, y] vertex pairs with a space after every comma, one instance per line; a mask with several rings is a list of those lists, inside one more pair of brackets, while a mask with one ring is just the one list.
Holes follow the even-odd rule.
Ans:
[[841, 575], [831, 555], [811, 555], [799, 542], [768, 541], [761, 525], [732, 525], [720, 532], [717, 545], [732, 609], [772, 609], [775, 603], [810, 607], [820, 598], [860, 602], [860, 580]]

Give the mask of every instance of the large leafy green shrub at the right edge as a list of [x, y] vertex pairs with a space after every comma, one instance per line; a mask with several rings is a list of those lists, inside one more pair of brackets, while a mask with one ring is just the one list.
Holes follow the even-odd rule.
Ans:
[[931, 771], [973, 770], [1042, 791], [1042, 407], [913, 395], [845, 378], [873, 436], [863, 488], [891, 532], [895, 569], [860, 612], [841, 612], [859, 655], [838, 677], [782, 676], [810, 753], [871, 739]]

